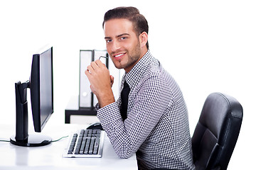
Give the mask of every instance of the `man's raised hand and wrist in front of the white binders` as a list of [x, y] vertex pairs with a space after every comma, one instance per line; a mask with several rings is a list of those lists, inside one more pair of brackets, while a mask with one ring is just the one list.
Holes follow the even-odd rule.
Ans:
[[114, 95], [111, 89], [114, 77], [110, 76], [110, 71], [105, 64], [100, 60], [92, 62], [87, 66], [85, 75], [90, 81], [90, 89], [97, 96], [100, 108], [114, 102]]

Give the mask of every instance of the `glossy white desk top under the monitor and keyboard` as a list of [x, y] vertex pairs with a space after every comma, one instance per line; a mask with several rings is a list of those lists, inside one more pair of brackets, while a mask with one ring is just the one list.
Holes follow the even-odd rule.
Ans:
[[[46, 125], [43, 134], [58, 140], [80, 128], [81, 125], [72, 124]], [[0, 140], [9, 140], [9, 137], [15, 133], [15, 127], [11, 125], [0, 125], [0, 129]], [[18, 147], [10, 142], [0, 142], [0, 169], [137, 169], [135, 154], [129, 159], [117, 157], [107, 135], [105, 135], [102, 158], [63, 158], [63, 149], [67, 143], [68, 138], [43, 147]]]

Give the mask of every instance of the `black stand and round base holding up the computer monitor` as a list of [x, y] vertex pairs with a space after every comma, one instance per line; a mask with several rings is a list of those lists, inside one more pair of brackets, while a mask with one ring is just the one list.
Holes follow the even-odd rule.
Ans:
[[50, 137], [41, 134], [28, 135], [28, 101], [27, 88], [29, 81], [21, 84], [15, 83], [16, 94], [16, 135], [10, 138], [11, 144], [22, 147], [40, 147], [49, 145], [52, 140]]

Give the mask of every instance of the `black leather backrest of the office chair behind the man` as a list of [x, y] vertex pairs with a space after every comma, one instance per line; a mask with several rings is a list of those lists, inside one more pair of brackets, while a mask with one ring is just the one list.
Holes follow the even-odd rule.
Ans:
[[196, 169], [227, 169], [238, 140], [242, 106], [233, 97], [210, 94], [192, 137]]

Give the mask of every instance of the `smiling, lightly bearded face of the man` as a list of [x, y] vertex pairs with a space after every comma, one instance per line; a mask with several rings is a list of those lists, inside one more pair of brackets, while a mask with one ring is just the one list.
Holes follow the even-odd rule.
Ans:
[[132, 22], [127, 19], [111, 19], [104, 25], [107, 52], [117, 69], [129, 72], [142, 58], [142, 50]]

